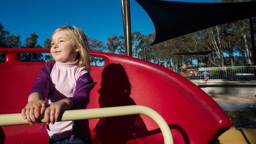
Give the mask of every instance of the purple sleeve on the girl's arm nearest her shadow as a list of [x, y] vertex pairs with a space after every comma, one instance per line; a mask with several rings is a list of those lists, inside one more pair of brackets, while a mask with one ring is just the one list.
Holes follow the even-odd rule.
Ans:
[[93, 79], [90, 73], [87, 72], [77, 79], [76, 90], [73, 97], [68, 97], [71, 100], [72, 109], [84, 109], [90, 102], [90, 92], [96, 83], [93, 83]]

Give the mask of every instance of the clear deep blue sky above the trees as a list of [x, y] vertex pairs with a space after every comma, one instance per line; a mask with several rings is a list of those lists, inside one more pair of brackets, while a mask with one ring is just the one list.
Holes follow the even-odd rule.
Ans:
[[[31, 33], [38, 44], [60, 26], [76, 26], [89, 38], [106, 42], [108, 36], [124, 36], [121, 0], [0, 0], [0, 24], [11, 35], [20, 35], [22, 45]], [[176, 0], [205, 3], [205, 0]], [[130, 0], [131, 31], [154, 33], [154, 25], [135, 0]]]

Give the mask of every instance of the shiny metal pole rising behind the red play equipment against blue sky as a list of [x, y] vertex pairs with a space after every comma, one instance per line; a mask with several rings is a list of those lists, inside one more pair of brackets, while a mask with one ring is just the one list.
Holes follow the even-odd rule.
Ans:
[[132, 56], [130, 1], [121, 0], [124, 24], [125, 54]]

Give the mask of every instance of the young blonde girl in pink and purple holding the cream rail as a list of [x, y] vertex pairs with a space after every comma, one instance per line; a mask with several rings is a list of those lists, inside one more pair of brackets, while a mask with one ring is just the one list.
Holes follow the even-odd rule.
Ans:
[[29, 124], [45, 118], [49, 143], [92, 143], [88, 120], [58, 122], [65, 110], [85, 109], [95, 83], [90, 76], [86, 35], [79, 28], [64, 26], [51, 37], [55, 63], [40, 72], [22, 109]]

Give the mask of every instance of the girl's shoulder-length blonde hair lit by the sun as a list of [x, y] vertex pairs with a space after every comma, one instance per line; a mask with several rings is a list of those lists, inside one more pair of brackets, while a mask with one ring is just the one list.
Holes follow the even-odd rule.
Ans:
[[52, 33], [52, 36], [58, 31], [67, 31], [67, 35], [72, 38], [74, 48], [79, 49], [79, 54], [77, 56], [79, 61], [78, 67], [85, 67], [90, 70], [91, 67], [88, 40], [84, 32], [75, 26], [61, 26]]

